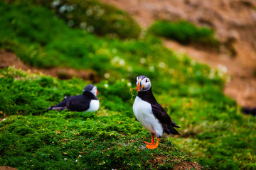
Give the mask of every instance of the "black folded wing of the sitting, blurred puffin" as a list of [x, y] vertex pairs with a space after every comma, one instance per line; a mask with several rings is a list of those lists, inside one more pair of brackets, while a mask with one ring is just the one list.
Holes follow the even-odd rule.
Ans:
[[67, 107], [69, 111], [87, 111], [91, 99], [84, 95], [71, 96], [68, 98]]

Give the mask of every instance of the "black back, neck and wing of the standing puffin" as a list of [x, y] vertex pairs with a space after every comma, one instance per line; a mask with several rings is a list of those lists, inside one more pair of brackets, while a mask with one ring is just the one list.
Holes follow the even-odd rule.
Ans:
[[156, 101], [151, 88], [148, 91], [139, 91], [137, 96], [143, 101], [151, 104], [152, 112], [154, 116], [159, 120], [159, 123], [161, 123], [164, 132], [167, 134], [171, 133], [173, 135], [180, 135], [175, 128], [181, 127], [177, 126], [176, 123], [171, 120], [170, 116], [166, 113], [164, 108]]

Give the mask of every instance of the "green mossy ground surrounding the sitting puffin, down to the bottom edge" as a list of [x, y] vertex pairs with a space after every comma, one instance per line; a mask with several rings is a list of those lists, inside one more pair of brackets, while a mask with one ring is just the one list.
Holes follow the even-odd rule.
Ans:
[[[1, 165], [18, 169], [156, 169], [192, 160], [170, 140], [162, 140], [161, 149], [146, 149], [143, 141], [150, 140], [149, 132], [131, 111], [122, 112], [125, 98], [118, 98], [118, 103], [117, 98], [105, 96], [104, 91], [117, 84], [107, 88], [105, 83], [97, 84], [101, 93], [97, 113], [46, 112], [53, 101], [71, 92], [80, 94], [86, 82], [60, 81], [11, 67], [1, 70], [1, 75], [1, 116], [8, 115], [0, 123]], [[130, 96], [127, 83], [118, 86], [119, 93]], [[106, 109], [105, 100], [120, 105], [119, 111]], [[160, 156], [161, 162], [156, 162]]]

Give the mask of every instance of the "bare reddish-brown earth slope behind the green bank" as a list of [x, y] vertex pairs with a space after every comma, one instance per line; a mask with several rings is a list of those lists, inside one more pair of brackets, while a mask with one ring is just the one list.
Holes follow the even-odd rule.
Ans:
[[188, 21], [215, 30], [218, 52], [205, 45], [181, 45], [164, 40], [172, 50], [230, 75], [224, 92], [241, 106], [256, 106], [256, 1], [105, 1], [132, 15], [142, 28], [154, 21]]

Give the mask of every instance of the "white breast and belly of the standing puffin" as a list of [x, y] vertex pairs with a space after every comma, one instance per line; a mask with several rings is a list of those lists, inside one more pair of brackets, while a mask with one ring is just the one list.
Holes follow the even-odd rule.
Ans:
[[137, 96], [132, 108], [137, 120], [139, 123], [142, 123], [146, 130], [159, 136], [163, 135], [163, 128], [159, 120], [154, 116], [150, 103], [143, 101]]

